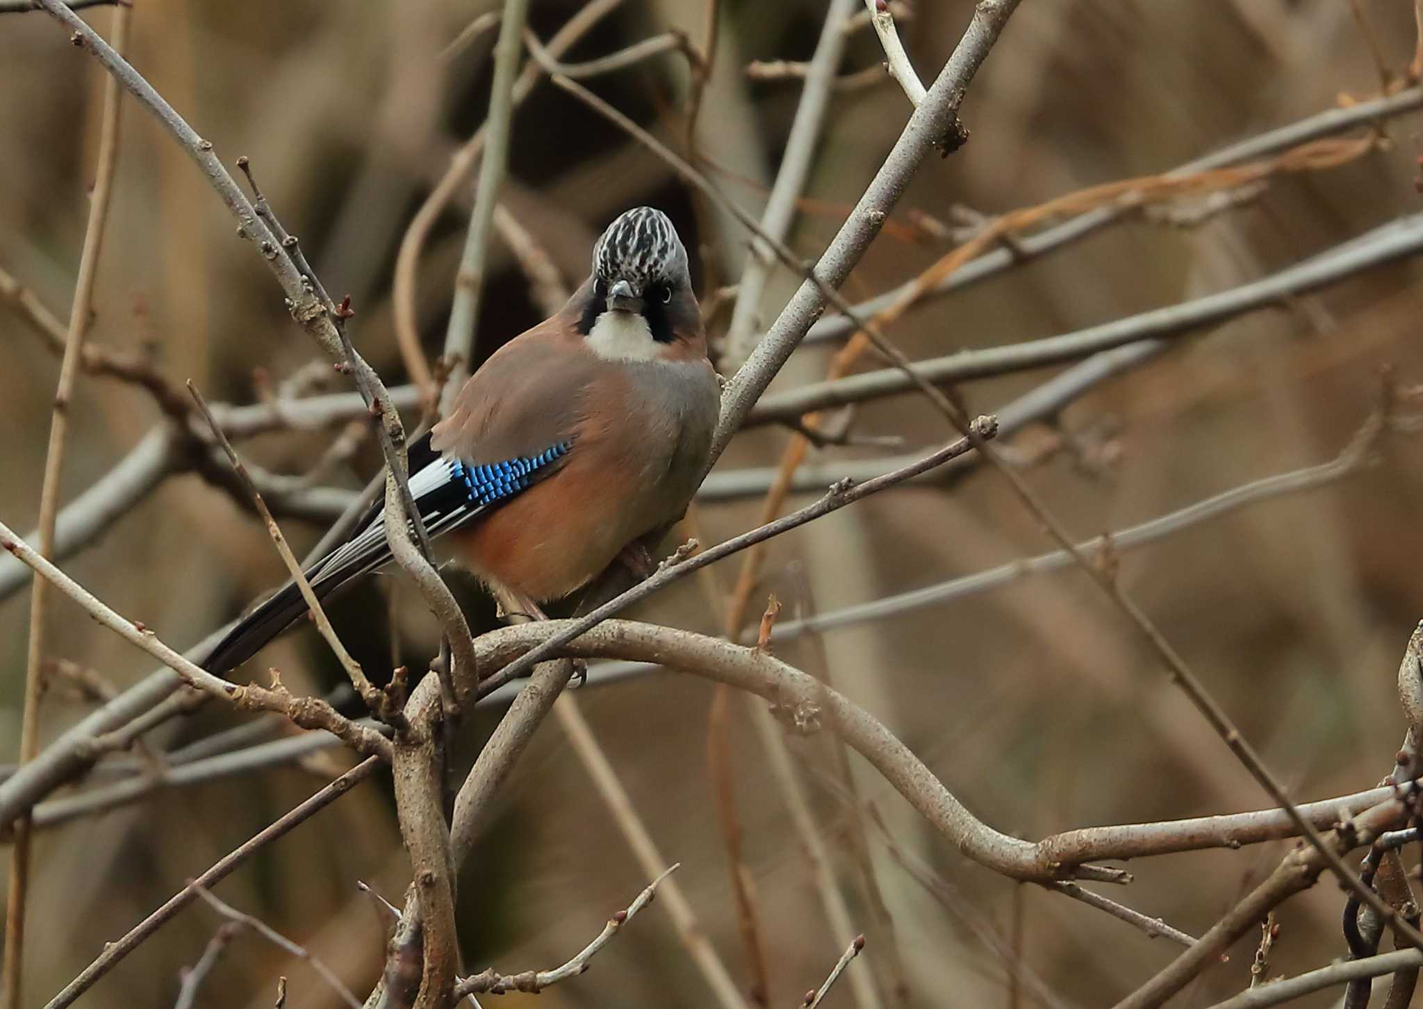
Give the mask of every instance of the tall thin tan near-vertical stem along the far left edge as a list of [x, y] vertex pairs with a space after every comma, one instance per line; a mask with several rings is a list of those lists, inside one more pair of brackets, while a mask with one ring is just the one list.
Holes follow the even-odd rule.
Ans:
[[[128, 38], [128, 9], [114, 11], [114, 46], [124, 48]], [[64, 359], [60, 364], [58, 387], [54, 391], [54, 408], [50, 414], [50, 443], [44, 455], [44, 475], [40, 484], [40, 555], [54, 556], [55, 524], [60, 514], [60, 478], [64, 472], [64, 447], [68, 435], [70, 404], [83, 359], [84, 337], [90, 327], [90, 309], [94, 302], [94, 279], [98, 275], [98, 259], [104, 248], [104, 233], [108, 225], [108, 208], [114, 194], [114, 171], [118, 165], [120, 107], [122, 93], [118, 81], [104, 81], [104, 102], [100, 114], [98, 157], [94, 165], [94, 194], [90, 199], [88, 221], [84, 226], [84, 246], [80, 250], [78, 273], [74, 282], [74, 300], [70, 305], [70, 322], [64, 334]], [[30, 630], [28, 653], [24, 665], [24, 687], [20, 714], [20, 763], [33, 760], [40, 750], [40, 699], [44, 694], [44, 649], [48, 630], [50, 586], [36, 579], [30, 588]], [[0, 1005], [20, 1009], [24, 972], [24, 925], [26, 902], [30, 888], [30, 820], [20, 817], [14, 824], [14, 845], [10, 850], [10, 884], [6, 897], [4, 929], [4, 989]]]

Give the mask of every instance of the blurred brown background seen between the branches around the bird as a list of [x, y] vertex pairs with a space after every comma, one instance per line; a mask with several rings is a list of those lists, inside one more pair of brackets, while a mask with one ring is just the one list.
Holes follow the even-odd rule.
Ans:
[[[955, 216], [956, 205], [983, 215], [1032, 206], [1083, 186], [1165, 171], [1335, 107], [1340, 95], [1377, 94], [1372, 48], [1400, 71], [1414, 53], [1413, 11], [1397, 0], [1360, 6], [1370, 31], [1360, 30], [1340, 0], [1026, 0], [965, 102], [970, 141], [948, 159], [925, 162], [894, 218], [902, 226], [875, 242], [847, 295], [858, 300], [881, 293], [952, 246], [932, 228], [915, 226], [915, 211], [948, 222], [963, 219], [962, 212]], [[451, 154], [484, 120], [497, 33], [468, 38], [465, 30], [494, 7], [492, 0], [134, 4], [132, 63], [229, 165], [238, 155], [250, 158], [327, 287], [337, 297], [351, 295], [354, 340], [393, 386], [408, 381], [391, 324], [396, 250]], [[529, 23], [546, 40], [579, 7], [582, 0], [534, 0]], [[746, 67], [753, 60], [810, 58], [824, 11], [824, 0], [720, 4], [699, 147], [717, 184], [754, 212], [774, 178], [800, 83], [748, 80]], [[969, 0], [915, 0], [912, 17], [901, 19], [925, 80], [943, 64], [970, 13]], [[85, 16], [107, 33], [110, 10]], [[700, 44], [703, 21], [703, 4], [692, 0], [626, 0], [565, 58], [602, 56], [669, 27]], [[881, 58], [874, 33], [861, 30], [848, 41], [841, 71], [874, 67]], [[591, 87], [680, 144], [686, 65], [667, 53]], [[10, 14], [0, 17], [0, 269], [63, 319], [84, 238], [102, 73], [44, 14]], [[888, 78], [835, 94], [790, 235], [798, 253], [818, 255], [835, 233], [908, 112]], [[1133, 216], [988, 283], [929, 300], [891, 336], [911, 356], [933, 357], [1064, 333], [1265, 276], [1419, 209], [1419, 120], [1402, 117], [1382, 128], [1387, 145], [1339, 168], [1279, 178], [1197, 226]], [[472, 191], [472, 184], [460, 186], [420, 260], [418, 323], [431, 357], [444, 339]], [[546, 81], [515, 114], [502, 201], [571, 286], [586, 275], [592, 242], [606, 222], [638, 204], [673, 216], [693, 249], [709, 307], [724, 300], [714, 292], [736, 280], [746, 256], [744, 233], [717, 215], [697, 215], [666, 165]], [[542, 317], [525, 273], [498, 239], [491, 262], [478, 323], [484, 354]], [[794, 286], [787, 270], [771, 273], [758, 309], [763, 324]], [[212, 401], [258, 403], [299, 373], [320, 376], [310, 389], [346, 389], [324, 364], [302, 371], [319, 350], [290, 322], [280, 290], [249, 245], [235, 239], [232, 219], [194, 165], [129, 100], [94, 310], [92, 340], [149, 353], [162, 374], [178, 383], [192, 379]], [[1170, 353], [1072, 403], [1056, 426], [1033, 426], [1007, 444], [1074, 534], [1120, 529], [1333, 458], [1373, 410], [1380, 367], [1392, 366], [1405, 386], [1423, 381], [1420, 310], [1416, 265], [1372, 270], [1183, 339]], [[714, 333], [727, 317], [721, 305]], [[37, 517], [58, 357], [3, 297], [0, 349], [0, 521], [28, 531]], [[803, 349], [773, 391], [824, 377], [832, 352], [834, 344]], [[1049, 374], [979, 381], [963, 391], [975, 410], [990, 411]], [[70, 417], [64, 502], [164, 423], [141, 390], [91, 374], [80, 376]], [[942, 418], [912, 394], [865, 404], [854, 430], [902, 441], [898, 448], [813, 448], [811, 464], [835, 472], [851, 460], [912, 451], [945, 437]], [[788, 437], [776, 427], [748, 431], [719, 472], [774, 465]], [[339, 424], [246, 438], [239, 451], [272, 472], [299, 475], [336, 441], [342, 447], [327, 457], [319, 482], [356, 488], [377, 468], [379, 448]], [[1120, 559], [1126, 589], [1299, 798], [1372, 787], [1392, 767], [1403, 737], [1393, 677], [1423, 616], [1420, 461], [1423, 443], [1392, 438], [1375, 464], [1329, 487], [1184, 528]], [[750, 528], [760, 508], [760, 492], [703, 502], [696, 509], [702, 542]], [[299, 548], [322, 532], [317, 517], [310, 518], [283, 522]], [[777, 539], [750, 618], [760, 615], [766, 592], [783, 599], [787, 616], [825, 612], [1049, 548], [993, 474], [916, 484]], [[64, 566], [178, 648], [198, 642], [283, 578], [250, 509], [191, 472], [159, 482]], [[677, 585], [639, 616], [720, 633], [721, 603], [712, 595], [729, 595], [737, 566], [730, 561], [712, 568], [710, 585]], [[0, 760], [11, 761], [18, 751], [28, 592], [13, 571], [0, 572], [10, 578], [0, 599]], [[384, 582], [396, 582], [393, 622]], [[391, 626], [394, 649], [413, 665], [424, 662], [437, 640], [416, 593], [398, 582], [376, 579], [332, 608], [344, 640], [377, 677], [391, 665]], [[471, 613], [492, 626], [492, 606], [468, 579], [455, 582]], [[149, 659], [67, 601], [51, 605], [54, 657], [98, 670], [114, 687], [152, 669]], [[970, 810], [1020, 837], [1268, 805], [1080, 572], [1020, 578], [788, 643], [780, 655], [828, 672]], [[312, 693], [342, 680], [310, 630], [273, 643], [245, 672], [259, 675], [266, 666], [279, 666], [289, 686]], [[750, 989], [707, 768], [713, 694], [704, 680], [657, 672], [579, 697], [663, 855], [683, 864], [677, 878], [713, 945]], [[44, 699], [44, 737], [73, 724], [92, 703], [57, 685]], [[841, 942], [825, 921], [811, 862], [767, 771], [747, 707], [734, 697], [729, 712], [743, 857], [767, 955], [766, 995], [770, 1005], [794, 1005], [824, 979]], [[472, 719], [465, 760], [497, 714]], [[165, 724], [147, 744], [175, 750], [245, 720], [208, 707]], [[1151, 941], [1057, 894], [1019, 888], [961, 858], [857, 763], [861, 793], [884, 814], [896, 844], [956, 895], [949, 905], [936, 899], [871, 831], [894, 922], [892, 936], [877, 934], [850, 855], [852, 818], [834, 786], [828, 741], [793, 739], [791, 750], [855, 926], [869, 939], [868, 958], [851, 971], [872, 972], [887, 1005], [1006, 999], [1015, 928], [1022, 963], [1062, 1005], [1110, 1003], [1175, 955], [1164, 939]], [[132, 763], [135, 756], [142, 757], [115, 759]], [[326, 750], [296, 766], [171, 787], [43, 827], [24, 1005], [43, 1005], [105, 941], [350, 763], [344, 751]], [[84, 787], [104, 783], [98, 776]], [[1131, 865], [1136, 882], [1111, 895], [1198, 935], [1286, 847], [1146, 860]], [[647, 882], [552, 722], [518, 764], [472, 865], [461, 879], [460, 925], [474, 971], [562, 962]], [[357, 879], [397, 902], [408, 881], [387, 776], [270, 845], [218, 892], [306, 945], [364, 993], [379, 975], [383, 939]], [[1272, 971], [1298, 973], [1342, 955], [1340, 904], [1338, 889], [1322, 884], [1281, 908]], [[179, 969], [198, 959], [218, 924], [201, 905], [182, 912], [81, 1005], [169, 1005]], [[905, 1002], [894, 999], [887, 946], [902, 958]], [[1254, 936], [1207, 971], [1183, 1003], [1205, 1005], [1244, 988], [1252, 952]], [[201, 1005], [268, 1006], [277, 975], [292, 981], [289, 1005], [339, 1005], [307, 965], [255, 936], [232, 944]], [[502, 1005], [529, 998], [507, 995]], [[712, 1002], [657, 904], [599, 955], [586, 978], [539, 998], [544, 1006]], [[841, 982], [831, 999], [850, 1005], [855, 993]], [[1022, 999], [1044, 1003], [1033, 988], [1025, 988]], [[1326, 1003], [1316, 996], [1312, 1005]]]

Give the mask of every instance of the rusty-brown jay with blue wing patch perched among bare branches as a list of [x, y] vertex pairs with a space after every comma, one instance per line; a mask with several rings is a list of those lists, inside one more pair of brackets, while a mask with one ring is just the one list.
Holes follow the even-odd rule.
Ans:
[[[482, 582], [562, 599], [684, 514], [719, 406], [686, 246], [638, 206], [599, 236], [568, 303], [491, 354], [410, 445], [410, 492], [431, 539]], [[322, 599], [390, 559], [377, 505], [305, 574]], [[306, 609], [287, 582], [203, 666], [235, 669]]]

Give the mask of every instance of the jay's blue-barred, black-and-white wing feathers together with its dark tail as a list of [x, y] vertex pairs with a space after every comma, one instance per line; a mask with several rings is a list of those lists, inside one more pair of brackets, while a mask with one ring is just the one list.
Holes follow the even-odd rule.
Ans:
[[[468, 464], [431, 451], [425, 435], [410, 447], [410, 495], [425, 532], [433, 539], [505, 504], [556, 470], [569, 448], [561, 441], [536, 455]], [[356, 528], [359, 532], [303, 572], [317, 599], [390, 562], [384, 507], [377, 504]], [[203, 666], [223, 673], [242, 665], [305, 612], [302, 591], [289, 581], [218, 642]]]

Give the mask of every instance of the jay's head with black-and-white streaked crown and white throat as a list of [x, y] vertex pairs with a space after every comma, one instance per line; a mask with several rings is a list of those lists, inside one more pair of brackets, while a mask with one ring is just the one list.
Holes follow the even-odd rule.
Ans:
[[677, 344], [703, 340], [687, 250], [667, 215], [652, 206], [608, 225], [593, 245], [592, 276], [573, 299], [579, 330], [605, 356], [680, 356]]

